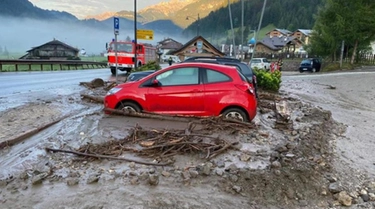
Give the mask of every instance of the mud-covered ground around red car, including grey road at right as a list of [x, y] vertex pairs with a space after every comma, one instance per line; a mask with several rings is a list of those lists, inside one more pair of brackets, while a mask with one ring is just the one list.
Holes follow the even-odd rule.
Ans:
[[[371, 68], [284, 72], [280, 94], [261, 94], [248, 128], [197, 121], [191, 129], [181, 121], [104, 115], [101, 104], [80, 93], [105, 91], [78, 83], [73, 93], [30, 97], [0, 112], [0, 140], [30, 132], [0, 150], [1, 208], [375, 208], [374, 77]], [[233, 146], [210, 160], [211, 152], [194, 151], [199, 143], [171, 157], [140, 156], [140, 145], [156, 138]], [[82, 158], [46, 147], [173, 164]]]

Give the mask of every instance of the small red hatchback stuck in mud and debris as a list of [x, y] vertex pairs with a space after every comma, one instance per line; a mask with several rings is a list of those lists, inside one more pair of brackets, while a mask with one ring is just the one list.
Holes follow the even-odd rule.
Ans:
[[254, 88], [235, 67], [194, 62], [120, 84], [107, 93], [104, 106], [173, 115], [223, 115], [241, 121], [251, 121], [257, 112]]

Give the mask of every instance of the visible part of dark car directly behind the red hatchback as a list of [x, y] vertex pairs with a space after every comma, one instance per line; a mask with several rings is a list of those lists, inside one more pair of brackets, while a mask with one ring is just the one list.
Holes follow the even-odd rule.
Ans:
[[190, 57], [183, 62], [202, 62], [202, 63], [216, 63], [222, 65], [235, 66], [242, 74], [246, 76], [249, 83], [255, 90], [255, 95], [258, 98], [258, 87], [257, 78], [253, 70], [246, 64], [241, 62], [239, 59], [230, 57]]

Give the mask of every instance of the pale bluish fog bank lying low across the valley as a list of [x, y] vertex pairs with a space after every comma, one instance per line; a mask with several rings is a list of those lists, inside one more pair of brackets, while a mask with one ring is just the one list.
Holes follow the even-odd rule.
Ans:
[[[134, 37], [134, 29], [120, 31], [119, 40]], [[113, 30], [98, 29], [82, 24], [67, 24], [54, 21], [41, 21], [24, 18], [5, 18], [0, 16], [0, 47], [6, 47], [9, 53], [26, 54], [35, 46], [57, 39], [72, 47], [85, 49], [87, 55], [97, 55], [105, 51], [105, 43], [114, 38]], [[143, 41], [156, 44], [165, 35], [154, 34], [153, 41]], [[178, 38], [171, 37], [176, 41]], [[182, 42], [183, 43], [183, 42]]]

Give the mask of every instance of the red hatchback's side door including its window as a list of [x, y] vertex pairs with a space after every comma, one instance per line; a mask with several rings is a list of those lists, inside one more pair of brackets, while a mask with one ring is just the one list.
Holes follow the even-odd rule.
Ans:
[[195, 115], [204, 109], [203, 85], [198, 67], [178, 67], [156, 75], [146, 101], [150, 112]]

